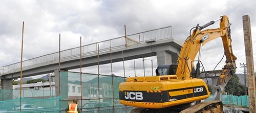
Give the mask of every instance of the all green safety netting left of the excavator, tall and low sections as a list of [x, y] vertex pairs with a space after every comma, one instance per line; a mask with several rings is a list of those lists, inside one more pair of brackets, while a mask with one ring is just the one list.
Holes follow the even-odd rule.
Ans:
[[[55, 90], [23, 89], [22, 104], [37, 106], [36, 112], [65, 112], [68, 104], [76, 98], [82, 112], [130, 112], [134, 107], [124, 106], [118, 99], [118, 85], [124, 81], [124, 77], [115, 75], [87, 73], [82, 73], [80, 80], [80, 73], [61, 71], [60, 97], [62, 100], [59, 97], [50, 98], [55, 96]], [[19, 89], [0, 89], [0, 112], [18, 112], [19, 94]], [[35, 112], [35, 109], [23, 109], [22, 112]]]

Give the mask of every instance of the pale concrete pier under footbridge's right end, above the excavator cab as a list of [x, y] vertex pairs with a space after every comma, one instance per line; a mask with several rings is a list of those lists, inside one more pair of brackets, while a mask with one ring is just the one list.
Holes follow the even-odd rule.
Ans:
[[157, 52], [157, 65], [172, 63], [172, 54], [166, 51]]

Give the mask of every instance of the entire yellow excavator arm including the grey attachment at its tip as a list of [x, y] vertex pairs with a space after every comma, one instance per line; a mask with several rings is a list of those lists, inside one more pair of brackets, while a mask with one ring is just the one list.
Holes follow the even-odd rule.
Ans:
[[[220, 28], [218, 29], [202, 29], [214, 24], [220, 19]], [[189, 79], [192, 77], [192, 64], [195, 61], [195, 57], [199, 52], [199, 60], [201, 55], [201, 48], [207, 42], [214, 40], [218, 37], [222, 38], [222, 43], [226, 56], [226, 64], [223, 67], [221, 75], [219, 76], [218, 83], [215, 86], [216, 92], [214, 94], [214, 100], [222, 100], [221, 91], [231, 78], [236, 73], [236, 56], [233, 55], [230, 37], [230, 24], [226, 15], [221, 16], [216, 21], [210, 21], [208, 24], [200, 27], [195, 27], [193, 34], [191, 34], [184, 42], [181, 48], [181, 54], [178, 58], [177, 77], [179, 79]], [[197, 66], [196, 75], [199, 74], [199, 68]]]

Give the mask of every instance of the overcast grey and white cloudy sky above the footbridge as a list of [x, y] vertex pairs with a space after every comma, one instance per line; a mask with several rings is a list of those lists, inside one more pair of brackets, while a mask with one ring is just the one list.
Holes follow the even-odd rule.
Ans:
[[[22, 22], [25, 21], [24, 59], [82, 44], [107, 40], [127, 34], [173, 26], [173, 38], [184, 42], [190, 28], [204, 25], [221, 15], [227, 15], [231, 25], [232, 47], [240, 63], [246, 62], [242, 16], [251, 19], [253, 49], [256, 49], [256, 1], [0, 1], [0, 66], [20, 61]], [[219, 27], [219, 21], [211, 28]], [[202, 50], [206, 70], [213, 70], [224, 53], [221, 38], [207, 43]], [[256, 53], [254, 53], [256, 55]], [[155, 59], [150, 57], [146, 59]], [[255, 60], [254, 60], [255, 61]], [[142, 59], [136, 59], [136, 74], [143, 75]], [[217, 67], [221, 69], [225, 59]], [[157, 61], [153, 60], [154, 69]], [[151, 75], [151, 61], [145, 61], [146, 75]], [[92, 70], [94, 69], [94, 70]], [[100, 66], [100, 73], [111, 74], [110, 64]], [[134, 75], [134, 60], [125, 61], [125, 73]], [[116, 75], [123, 75], [122, 62], [113, 64]], [[95, 66], [83, 68], [85, 73], [97, 73]]]

